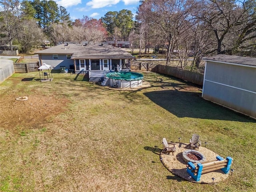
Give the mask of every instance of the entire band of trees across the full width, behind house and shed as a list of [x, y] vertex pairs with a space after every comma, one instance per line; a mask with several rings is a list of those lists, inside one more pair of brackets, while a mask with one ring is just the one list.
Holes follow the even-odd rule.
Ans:
[[167, 50], [166, 64], [175, 55], [182, 68], [190, 56], [198, 68], [203, 56], [255, 50], [255, 0], [141, 0], [135, 19], [130, 10], [120, 10], [100, 20], [83, 16], [72, 22], [53, 0], [0, 0], [0, 41], [11, 50], [17, 41], [28, 52], [43, 40], [54, 45], [129, 40], [139, 54], [150, 47], [156, 54]]

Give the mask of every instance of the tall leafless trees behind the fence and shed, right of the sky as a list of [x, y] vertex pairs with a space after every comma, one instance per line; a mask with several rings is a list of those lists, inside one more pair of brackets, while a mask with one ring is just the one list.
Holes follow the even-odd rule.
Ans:
[[140, 52], [164, 45], [166, 64], [173, 54], [185, 68], [190, 55], [198, 67], [202, 56], [255, 52], [255, 0], [141, 0], [136, 20], [130, 41]]

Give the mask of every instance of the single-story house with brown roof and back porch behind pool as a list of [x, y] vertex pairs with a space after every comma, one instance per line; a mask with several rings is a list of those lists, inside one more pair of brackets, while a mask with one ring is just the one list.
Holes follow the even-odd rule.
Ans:
[[103, 80], [107, 72], [129, 70], [132, 55], [110, 45], [61, 44], [37, 52], [40, 65], [46, 63], [54, 70], [65, 67], [75, 73], [88, 74], [90, 81]]

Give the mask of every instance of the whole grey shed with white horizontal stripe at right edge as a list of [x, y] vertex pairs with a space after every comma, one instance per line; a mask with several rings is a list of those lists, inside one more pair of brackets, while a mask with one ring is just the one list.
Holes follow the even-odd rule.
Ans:
[[202, 97], [256, 118], [256, 58], [219, 54], [204, 60]]

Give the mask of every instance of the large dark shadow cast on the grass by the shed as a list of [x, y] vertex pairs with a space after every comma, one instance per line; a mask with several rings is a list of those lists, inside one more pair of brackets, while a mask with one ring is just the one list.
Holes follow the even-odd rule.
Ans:
[[177, 117], [256, 122], [256, 120], [201, 98], [199, 92], [178, 90], [144, 93], [150, 100]]

